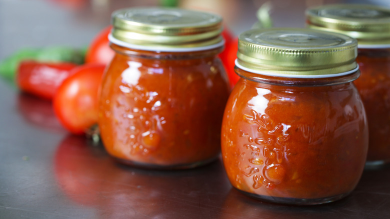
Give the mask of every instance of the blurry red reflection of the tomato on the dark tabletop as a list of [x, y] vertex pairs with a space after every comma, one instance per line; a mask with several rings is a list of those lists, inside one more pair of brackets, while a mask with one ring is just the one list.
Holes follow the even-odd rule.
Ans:
[[85, 136], [69, 134], [55, 150], [58, 187], [76, 203], [101, 204], [105, 191], [113, 187], [110, 179], [117, 171], [102, 145], [93, 145]]

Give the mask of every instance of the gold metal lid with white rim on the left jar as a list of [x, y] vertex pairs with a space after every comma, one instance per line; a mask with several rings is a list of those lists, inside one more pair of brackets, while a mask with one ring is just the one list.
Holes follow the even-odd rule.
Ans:
[[132, 7], [112, 13], [110, 40], [135, 49], [186, 51], [223, 45], [219, 15], [179, 8]]

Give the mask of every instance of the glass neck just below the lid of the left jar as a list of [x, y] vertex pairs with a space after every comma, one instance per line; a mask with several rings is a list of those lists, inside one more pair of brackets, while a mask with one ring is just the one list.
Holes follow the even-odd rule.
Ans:
[[142, 57], [149, 59], [196, 59], [196, 58], [204, 58], [204, 57], [214, 57], [219, 54], [223, 46], [219, 46], [212, 49], [207, 50], [199, 50], [199, 51], [150, 51], [150, 50], [140, 50], [133, 49], [124, 46], [120, 46], [115, 43], [110, 43], [110, 47], [117, 53], [126, 55], [126, 56], [134, 56], [134, 57]]

